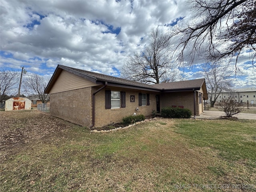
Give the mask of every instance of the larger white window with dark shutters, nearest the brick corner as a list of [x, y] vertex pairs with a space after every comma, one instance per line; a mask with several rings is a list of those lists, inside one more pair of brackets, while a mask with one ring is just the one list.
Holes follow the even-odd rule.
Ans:
[[120, 91], [105, 91], [105, 109], [116, 109], [125, 108], [126, 107], [126, 100], [125, 100], [126, 94], [125, 92]]

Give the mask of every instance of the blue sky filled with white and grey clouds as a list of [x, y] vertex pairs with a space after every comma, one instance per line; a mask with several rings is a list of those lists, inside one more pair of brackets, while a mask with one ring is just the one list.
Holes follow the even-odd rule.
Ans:
[[[191, 15], [184, 0], [0, 0], [0, 8], [1, 67], [24, 66], [28, 74], [46, 77], [58, 64], [120, 76], [124, 61], [142, 50], [153, 28], [168, 31]], [[256, 87], [249, 56], [240, 61], [234, 84]], [[185, 78], [201, 78], [198, 68], [185, 68]]]

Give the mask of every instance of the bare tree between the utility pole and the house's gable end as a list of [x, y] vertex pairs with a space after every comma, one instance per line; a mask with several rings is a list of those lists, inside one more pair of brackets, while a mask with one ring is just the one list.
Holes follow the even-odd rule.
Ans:
[[23, 88], [28, 95], [33, 95], [39, 98], [42, 103], [47, 103], [50, 100], [49, 94], [44, 94], [44, 89], [48, 84], [48, 80], [38, 74], [31, 74], [24, 78]]

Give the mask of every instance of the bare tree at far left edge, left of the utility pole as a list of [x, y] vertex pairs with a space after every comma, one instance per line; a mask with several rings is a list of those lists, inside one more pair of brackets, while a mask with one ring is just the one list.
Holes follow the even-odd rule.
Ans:
[[18, 92], [18, 72], [14, 70], [0, 69], [0, 102]]

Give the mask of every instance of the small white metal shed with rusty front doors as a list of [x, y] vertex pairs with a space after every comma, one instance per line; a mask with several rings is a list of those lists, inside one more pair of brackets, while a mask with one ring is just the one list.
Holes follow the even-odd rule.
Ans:
[[13, 97], [5, 101], [5, 110], [30, 110], [31, 100], [22, 97]]

